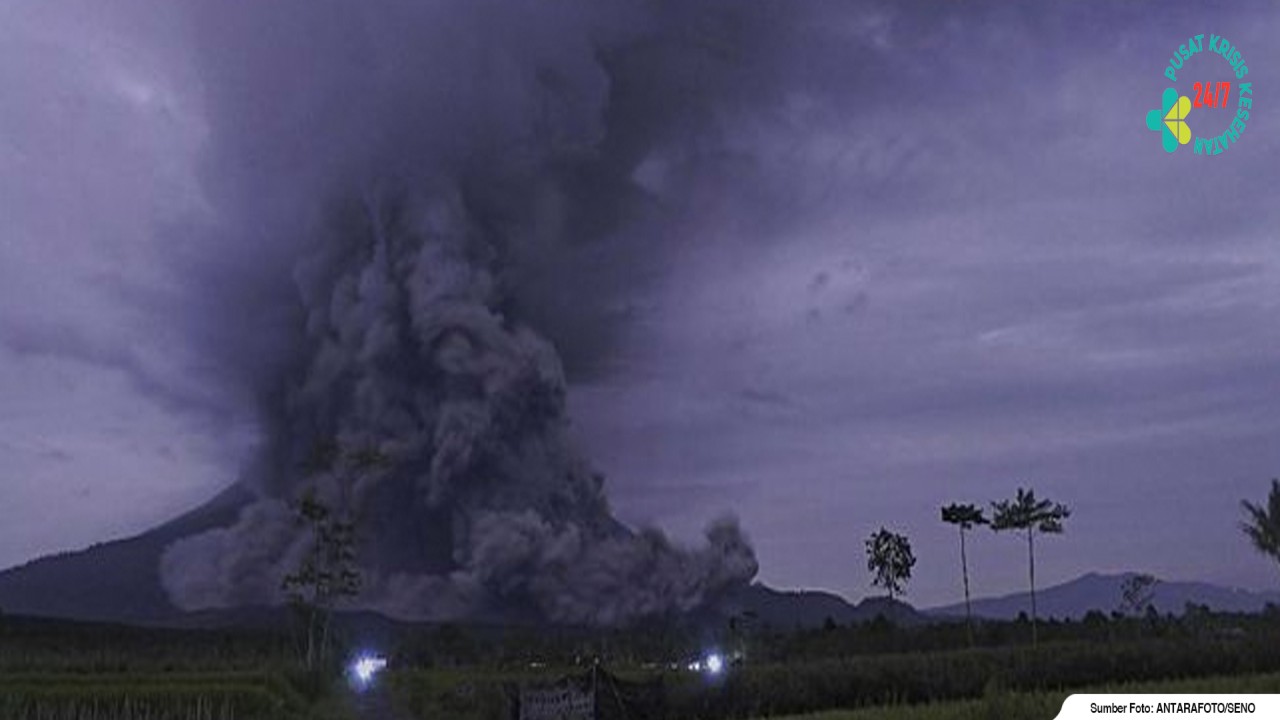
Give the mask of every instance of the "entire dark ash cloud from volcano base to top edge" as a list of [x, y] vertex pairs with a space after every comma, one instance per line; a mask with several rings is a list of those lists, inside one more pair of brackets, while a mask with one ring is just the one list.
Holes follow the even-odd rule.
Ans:
[[[236, 355], [239, 322], [285, 340], [252, 345], [283, 346], [252, 378], [268, 438], [244, 482], [260, 498], [165, 552], [174, 602], [278, 602], [308, 542], [288, 502], [310, 487], [357, 519], [360, 605], [397, 616], [608, 624], [749, 582], [755, 556], [732, 520], [694, 550], [614, 520], [568, 438], [556, 345], [571, 372], [598, 370], [622, 281], [660, 245], [632, 176], [658, 152], [707, 151], [716, 109], [742, 88], [727, 68], [751, 72], [735, 53], [767, 18], [216, 5], [192, 18], [206, 188], [227, 242], [266, 243], [244, 296], [288, 282], [298, 311], [232, 304], [206, 333], [214, 357]], [[593, 263], [602, 246], [612, 260]], [[308, 475], [330, 438], [389, 462]]]

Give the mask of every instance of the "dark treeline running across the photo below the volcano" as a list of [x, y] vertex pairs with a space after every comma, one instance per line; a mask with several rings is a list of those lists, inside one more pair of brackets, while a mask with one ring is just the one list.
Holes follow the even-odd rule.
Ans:
[[[1021, 648], [1030, 623], [974, 623], [977, 650]], [[969, 647], [963, 619], [899, 626], [879, 616], [813, 629], [780, 628], [750, 616], [724, 621], [653, 620], [626, 629], [397, 624], [340, 618], [339, 656], [378, 652], [398, 667], [572, 667], [603, 662], [623, 667], [684, 666], [709, 651], [750, 665], [841, 657], [960, 651]], [[1199, 644], [1239, 638], [1280, 638], [1280, 607], [1262, 614], [1221, 614], [1188, 606], [1181, 615], [1091, 612], [1082, 620], [1041, 620], [1039, 642], [1120, 646], [1133, 642]], [[32, 669], [236, 670], [287, 664], [297, 655], [287, 626], [175, 629], [76, 623], [0, 614], [0, 671]], [[1280, 642], [1276, 643], [1280, 652]]]

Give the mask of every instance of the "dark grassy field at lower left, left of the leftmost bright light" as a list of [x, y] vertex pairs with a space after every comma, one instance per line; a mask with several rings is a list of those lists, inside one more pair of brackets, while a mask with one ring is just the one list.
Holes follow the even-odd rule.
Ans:
[[4, 720], [339, 717], [332, 683], [296, 670], [288, 637], [0, 615]]

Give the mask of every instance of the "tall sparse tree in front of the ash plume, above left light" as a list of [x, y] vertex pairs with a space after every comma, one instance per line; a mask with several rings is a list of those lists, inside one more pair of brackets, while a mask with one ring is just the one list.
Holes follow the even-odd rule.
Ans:
[[306, 628], [302, 656], [307, 670], [315, 670], [328, 659], [334, 607], [360, 594], [356, 523], [346, 493], [358, 475], [385, 464], [387, 457], [376, 448], [346, 451], [333, 441], [317, 443], [303, 464], [307, 474], [330, 477], [342, 496], [335, 510], [311, 487], [291, 505], [294, 520], [306, 528], [308, 542], [297, 569], [282, 579], [280, 588]]

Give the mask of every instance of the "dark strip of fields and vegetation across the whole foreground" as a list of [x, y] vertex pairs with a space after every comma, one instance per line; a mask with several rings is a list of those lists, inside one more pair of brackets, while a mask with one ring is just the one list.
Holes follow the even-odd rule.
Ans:
[[[381, 621], [385, 625], [385, 621]], [[274, 625], [266, 624], [265, 628]], [[1080, 688], [1117, 683], [1280, 682], [1280, 611], [1179, 618], [1091, 615], [1048, 620], [1030, 646], [1027, 620], [895, 626], [879, 619], [812, 630], [652, 625], [630, 632], [458, 625], [358, 626], [344, 648], [378, 650], [404, 717], [507, 717], [521, 683], [602, 667], [660, 694], [664, 717], [1052, 717]], [[0, 616], [5, 720], [291, 720], [351, 717], [337, 665], [300, 670], [296, 638], [275, 630], [166, 630]], [[684, 670], [717, 647], [742, 653], [718, 676]], [[1211, 680], [1197, 680], [1211, 679]], [[1270, 684], [1267, 684], [1270, 683]], [[1147, 688], [1148, 685], [1140, 685]], [[1156, 687], [1156, 685], [1151, 685]], [[1256, 684], [1244, 685], [1257, 688]], [[1258, 692], [1262, 692], [1260, 688]], [[384, 698], [387, 700], [387, 698]], [[1046, 711], [1044, 708], [1052, 708]]]

